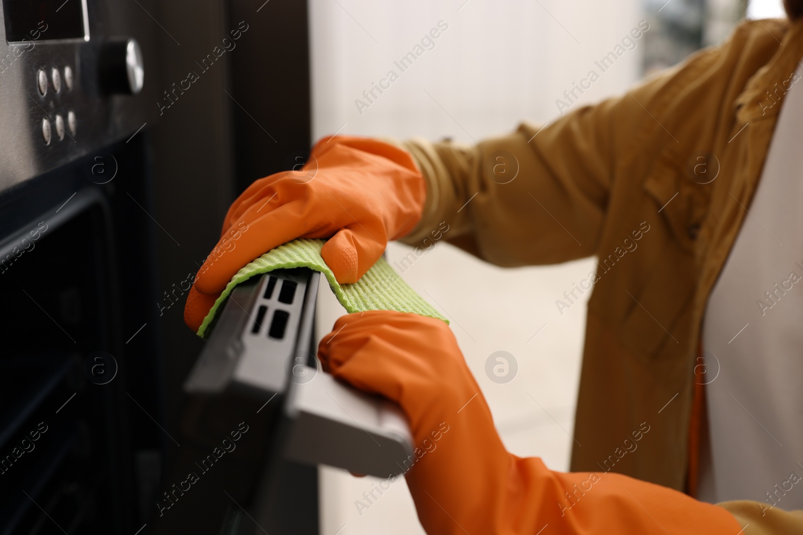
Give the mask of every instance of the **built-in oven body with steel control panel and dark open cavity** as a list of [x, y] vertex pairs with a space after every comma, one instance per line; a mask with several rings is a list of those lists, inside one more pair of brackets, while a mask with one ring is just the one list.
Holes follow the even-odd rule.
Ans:
[[149, 10], [0, 5], [3, 535], [131, 534], [152, 522], [169, 437]]

